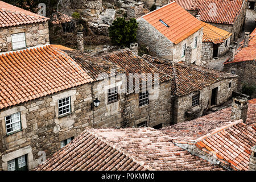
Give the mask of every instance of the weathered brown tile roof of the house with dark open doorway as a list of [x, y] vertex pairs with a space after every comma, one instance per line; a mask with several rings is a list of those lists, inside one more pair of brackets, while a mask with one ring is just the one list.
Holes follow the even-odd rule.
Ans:
[[177, 96], [185, 96], [225, 78], [237, 77], [230, 73], [219, 72], [193, 64], [187, 65], [183, 62], [172, 63], [169, 60], [149, 55], [143, 55], [142, 58], [173, 77], [172, 94]]

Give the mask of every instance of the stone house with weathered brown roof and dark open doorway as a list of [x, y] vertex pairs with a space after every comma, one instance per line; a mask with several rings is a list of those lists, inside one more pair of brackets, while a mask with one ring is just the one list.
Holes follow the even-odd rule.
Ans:
[[236, 75], [182, 61], [174, 63], [149, 55], [142, 57], [173, 77], [172, 123], [200, 117], [228, 101], [237, 89]]

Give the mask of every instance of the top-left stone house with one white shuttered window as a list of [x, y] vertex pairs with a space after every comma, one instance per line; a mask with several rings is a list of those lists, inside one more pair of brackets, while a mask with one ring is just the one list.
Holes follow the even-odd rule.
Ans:
[[48, 44], [48, 20], [0, 1], [0, 52]]

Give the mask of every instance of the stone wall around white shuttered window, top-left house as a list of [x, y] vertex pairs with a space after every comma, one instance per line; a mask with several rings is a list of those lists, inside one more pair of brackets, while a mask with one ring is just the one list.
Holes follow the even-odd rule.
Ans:
[[11, 35], [25, 32], [27, 47], [49, 43], [48, 22], [0, 28], [0, 52], [13, 51]]

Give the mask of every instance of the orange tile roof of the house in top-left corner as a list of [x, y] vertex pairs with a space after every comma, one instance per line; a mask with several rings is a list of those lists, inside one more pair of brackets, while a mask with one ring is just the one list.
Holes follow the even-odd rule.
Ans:
[[0, 28], [47, 22], [49, 18], [0, 1]]

